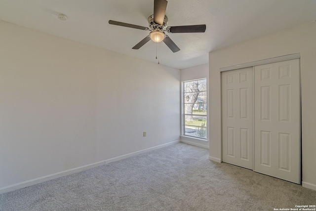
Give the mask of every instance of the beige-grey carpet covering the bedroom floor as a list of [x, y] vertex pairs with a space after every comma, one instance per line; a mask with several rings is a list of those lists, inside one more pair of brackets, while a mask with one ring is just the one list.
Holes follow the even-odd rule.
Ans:
[[316, 191], [179, 143], [0, 195], [1, 211], [273, 211]]

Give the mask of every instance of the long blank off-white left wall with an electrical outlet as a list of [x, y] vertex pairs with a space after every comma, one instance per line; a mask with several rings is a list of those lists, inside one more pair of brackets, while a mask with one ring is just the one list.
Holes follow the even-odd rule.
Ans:
[[179, 140], [179, 93], [180, 70], [0, 21], [0, 192]]

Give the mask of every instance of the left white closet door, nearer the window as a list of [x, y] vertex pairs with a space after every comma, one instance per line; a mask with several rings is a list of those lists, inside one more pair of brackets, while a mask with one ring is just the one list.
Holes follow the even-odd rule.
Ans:
[[253, 169], [253, 68], [222, 72], [223, 161]]

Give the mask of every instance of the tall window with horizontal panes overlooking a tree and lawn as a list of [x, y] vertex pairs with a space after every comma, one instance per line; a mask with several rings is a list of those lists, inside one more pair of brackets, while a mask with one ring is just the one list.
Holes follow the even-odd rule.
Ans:
[[184, 135], [207, 137], [206, 79], [183, 83]]

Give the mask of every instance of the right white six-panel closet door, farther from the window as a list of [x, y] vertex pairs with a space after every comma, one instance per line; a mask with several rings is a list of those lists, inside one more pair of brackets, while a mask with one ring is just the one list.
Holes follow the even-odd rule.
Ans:
[[299, 59], [254, 71], [254, 170], [300, 183]]

